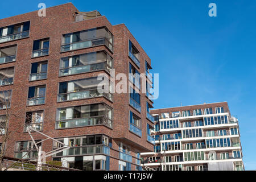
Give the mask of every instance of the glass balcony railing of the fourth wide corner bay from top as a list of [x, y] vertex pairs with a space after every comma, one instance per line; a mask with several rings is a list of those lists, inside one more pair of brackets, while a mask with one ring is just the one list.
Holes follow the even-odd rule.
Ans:
[[56, 121], [55, 129], [66, 129], [72, 127], [84, 127], [95, 125], [106, 125], [112, 128], [112, 121], [104, 116], [63, 119], [60, 121]]

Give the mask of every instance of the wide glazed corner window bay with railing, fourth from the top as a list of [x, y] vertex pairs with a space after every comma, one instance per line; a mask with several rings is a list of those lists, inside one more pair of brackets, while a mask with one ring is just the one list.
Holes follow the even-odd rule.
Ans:
[[113, 109], [106, 104], [91, 104], [57, 109], [56, 129], [106, 125], [112, 127]]

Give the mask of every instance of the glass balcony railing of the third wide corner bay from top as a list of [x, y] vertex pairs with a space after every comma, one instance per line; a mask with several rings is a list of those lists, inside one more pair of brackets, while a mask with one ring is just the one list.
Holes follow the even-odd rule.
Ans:
[[112, 93], [98, 93], [97, 89], [92, 90], [83, 90], [71, 93], [61, 93], [58, 94], [58, 102], [71, 101], [71, 100], [80, 100], [85, 98], [101, 97], [104, 96], [112, 101]]

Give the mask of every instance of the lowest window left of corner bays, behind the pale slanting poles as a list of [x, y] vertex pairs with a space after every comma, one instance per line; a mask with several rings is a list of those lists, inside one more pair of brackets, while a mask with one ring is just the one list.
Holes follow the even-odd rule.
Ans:
[[[41, 140], [35, 140], [37, 146], [42, 146]], [[22, 141], [15, 143], [15, 158], [19, 159], [35, 159], [38, 157], [38, 150], [32, 141]]]

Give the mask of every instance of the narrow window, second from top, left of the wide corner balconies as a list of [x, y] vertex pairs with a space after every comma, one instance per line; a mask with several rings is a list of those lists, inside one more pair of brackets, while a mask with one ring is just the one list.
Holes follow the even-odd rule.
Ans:
[[47, 77], [47, 61], [31, 64], [30, 81], [42, 80]]

